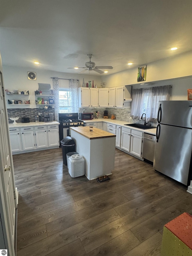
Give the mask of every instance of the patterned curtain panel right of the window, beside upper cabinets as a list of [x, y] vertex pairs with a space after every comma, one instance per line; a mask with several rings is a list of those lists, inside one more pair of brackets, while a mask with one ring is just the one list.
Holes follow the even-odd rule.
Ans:
[[72, 113], [79, 112], [78, 87], [79, 87], [79, 80], [69, 79], [69, 91], [71, 92], [70, 95], [71, 95], [71, 112]]

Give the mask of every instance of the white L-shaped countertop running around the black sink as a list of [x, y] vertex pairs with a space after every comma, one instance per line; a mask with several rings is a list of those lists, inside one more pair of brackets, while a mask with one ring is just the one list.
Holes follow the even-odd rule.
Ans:
[[[157, 128], [152, 128], [152, 129], [140, 129], [140, 128], [136, 128], [136, 127], [131, 127], [131, 126], [127, 126], [125, 124], [129, 124], [129, 122], [127, 121], [121, 121], [121, 120], [116, 120], [116, 119], [104, 119], [104, 118], [98, 118], [98, 119], [92, 119], [92, 120], [84, 120], [84, 123], [90, 123], [90, 122], [106, 122], [106, 123], [111, 123], [114, 125], [121, 125], [123, 127], [127, 127], [133, 130], [138, 130], [138, 131], [143, 131], [152, 135], [156, 135], [156, 129]], [[131, 124], [131, 123], [130, 123]]]

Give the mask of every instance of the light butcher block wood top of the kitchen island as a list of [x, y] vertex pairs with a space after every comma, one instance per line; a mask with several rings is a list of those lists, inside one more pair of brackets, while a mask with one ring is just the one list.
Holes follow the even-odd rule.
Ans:
[[89, 131], [89, 126], [70, 127], [70, 129], [76, 131], [82, 136], [88, 138], [89, 140], [116, 137], [115, 134], [112, 134], [108, 131], [103, 131], [95, 127], [93, 127], [93, 131]]

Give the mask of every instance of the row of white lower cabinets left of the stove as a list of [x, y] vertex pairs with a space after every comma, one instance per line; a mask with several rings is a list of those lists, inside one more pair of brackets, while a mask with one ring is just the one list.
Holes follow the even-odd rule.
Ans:
[[10, 128], [12, 154], [59, 146], [58, 125]]

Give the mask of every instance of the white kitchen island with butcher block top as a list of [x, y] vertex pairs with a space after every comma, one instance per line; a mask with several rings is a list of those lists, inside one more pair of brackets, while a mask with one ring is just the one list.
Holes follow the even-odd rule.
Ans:
[[85, 176], [91, 180], [110, 175], [114, 169], [116, 135], [89, 127], [70, 127], [76, 152], [85, 158]]

